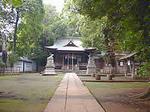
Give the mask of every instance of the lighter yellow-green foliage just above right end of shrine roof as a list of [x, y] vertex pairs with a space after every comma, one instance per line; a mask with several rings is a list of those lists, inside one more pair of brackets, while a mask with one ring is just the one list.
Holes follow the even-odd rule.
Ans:
[[95, 47], [99, 51], [105, 51], [105, 39], [102, 31], [106, 27], [106, 22], [107, 17], [95, 20], [83, 17], [80, 20], [79, 30], [82, 37], [81, 40], [86, 47]]

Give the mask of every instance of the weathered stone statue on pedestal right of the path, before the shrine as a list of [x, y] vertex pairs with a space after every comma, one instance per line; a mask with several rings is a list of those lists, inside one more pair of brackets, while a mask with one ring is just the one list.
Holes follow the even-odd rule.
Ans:
[[86, 75], [94, 76], [96, 74], [96, 65], [92, 55], [89, 55]]

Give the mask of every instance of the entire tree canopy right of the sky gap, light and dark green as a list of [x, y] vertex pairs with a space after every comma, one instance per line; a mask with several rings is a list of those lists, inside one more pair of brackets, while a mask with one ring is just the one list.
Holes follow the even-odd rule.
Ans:
[[138, 61], [145, 62], [141, 68], [149, 67], [149, 0], [68, 0], [67, 2], [70, 4], [68, 10], [71, 13], [81, 15], [79, 32], [85, 45], [106, 52], [137, 52]]

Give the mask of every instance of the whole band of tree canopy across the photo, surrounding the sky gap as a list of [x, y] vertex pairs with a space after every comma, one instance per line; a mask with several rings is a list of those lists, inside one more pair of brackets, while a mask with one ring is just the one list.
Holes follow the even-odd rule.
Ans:
[[[3, 3], [0, 29], [8, 25], [17, 29], [12, 39], [20, 56], [38, 57], [57, 38], [81, 36], [85, 46], [106, 52], [138, 52], [138, 60], [150, 63], [149, 0], [67, 0], [62, 14], [43, 6], [42, 0]], [[12, 33], [7, 35], [12, 37]]]

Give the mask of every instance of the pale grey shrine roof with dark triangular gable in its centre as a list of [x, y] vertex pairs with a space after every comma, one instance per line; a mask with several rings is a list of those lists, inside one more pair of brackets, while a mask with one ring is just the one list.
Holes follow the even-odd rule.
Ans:
[[53, 46], [46, 46], [48, 49], [56, 49], [59, 51], [85, 51], [79, 37], [60, 38], [54, 42]]

